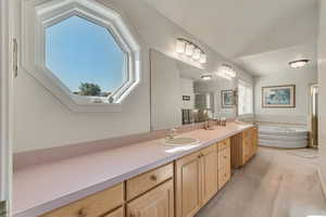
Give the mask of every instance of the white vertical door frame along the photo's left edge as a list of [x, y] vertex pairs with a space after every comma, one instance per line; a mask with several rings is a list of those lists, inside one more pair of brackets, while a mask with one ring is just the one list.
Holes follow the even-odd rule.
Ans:
[[13, 68], [12, 2], [0, 1], [0, 201], [7, 201], [8, 215], [12, 191]]

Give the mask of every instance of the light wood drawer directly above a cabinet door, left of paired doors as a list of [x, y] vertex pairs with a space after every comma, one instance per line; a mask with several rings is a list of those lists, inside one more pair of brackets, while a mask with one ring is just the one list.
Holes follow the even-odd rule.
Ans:
[[173, 164], [139, 175], [127, 180], [127, 200], [131, 200], [173, 177]]

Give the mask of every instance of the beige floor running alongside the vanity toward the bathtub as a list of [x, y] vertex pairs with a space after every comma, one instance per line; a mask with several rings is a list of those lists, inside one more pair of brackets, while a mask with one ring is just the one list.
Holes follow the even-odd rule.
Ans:
[[260, 148], [197, 217], [326, 216], [317, 158], [300, 155]]

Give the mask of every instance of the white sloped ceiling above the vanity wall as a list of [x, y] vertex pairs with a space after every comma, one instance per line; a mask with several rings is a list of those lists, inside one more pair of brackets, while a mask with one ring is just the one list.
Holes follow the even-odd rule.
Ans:
[[[266, 72], [281, 67], [287, 62], [281, 56], [296, 55], [296, 49], [290, 48], [315, 43], [317, 38], [317, 0], [143, 1], [225, 58], [244, 68], [253, 68], [249, 73], [254, 75], [263, 72], [263, 65], [271, 67]], [[260, 71], [241, 60], [269, 51], [279, 51], [281, 56], [266, 54], [262, 59], [271, 63], [259, 66]], [[298, 51], [303, 56], [315, 52], [300, 48]]]

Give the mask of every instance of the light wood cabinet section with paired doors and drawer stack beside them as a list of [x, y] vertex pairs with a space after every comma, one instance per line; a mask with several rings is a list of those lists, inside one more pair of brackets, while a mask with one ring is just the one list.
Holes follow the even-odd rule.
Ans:
[[175, 163], [176, 217], [192, 217], [230, 178], [230, 140]]

